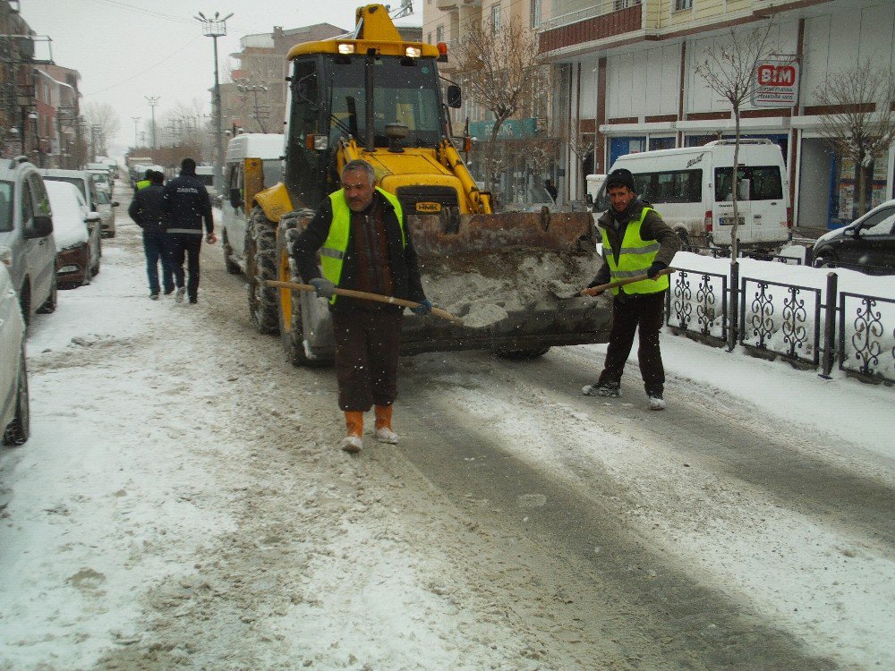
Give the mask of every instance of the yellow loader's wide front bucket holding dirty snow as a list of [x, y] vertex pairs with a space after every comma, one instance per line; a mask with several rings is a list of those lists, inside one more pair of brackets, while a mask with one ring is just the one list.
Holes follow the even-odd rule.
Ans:
[[[577, 293], [602, 262], [590, 214], [473, 215], [456, 217], [453, 226], [449, 217], [413, 215], [406, 223], [426, 296], [463, 324], [405, 311], [402, 353], [536, 355], [553, 345], [608, 341], [609, 302]], [[331, 359], [326, 301], [312, 293], [301, 300], [304, 346]]]

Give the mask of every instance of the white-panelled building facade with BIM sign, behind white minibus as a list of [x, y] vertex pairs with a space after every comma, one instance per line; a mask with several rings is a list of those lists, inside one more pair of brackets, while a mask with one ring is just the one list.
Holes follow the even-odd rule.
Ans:
[[[882, 0], [543, 0], [539, 51], [559, 76], [558, 113], [592, 133], [591, 158], [564, 157], [574, 198], [584, 174], [632, 151], [698, 146], [732, 137], [727, 100], [697, 66], [708, 49], [772, 21], [775, 58], [796, 64], [791, 105], [747, 102], [741, 132], [780, 145], [797, 225], [827, 228], [855, 217], [855, 166], [823, 140], [818, 89], [831, 72], [871, 59], [895, 64], [895, 3]], [[890, 106], [889, 101], [862, 101]], [[874, 163], [872, 204], [893, 194], [893, 155]]]

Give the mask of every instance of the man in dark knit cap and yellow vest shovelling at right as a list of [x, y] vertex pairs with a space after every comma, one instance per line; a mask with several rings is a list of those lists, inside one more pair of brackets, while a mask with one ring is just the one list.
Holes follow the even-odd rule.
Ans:
[[665, 369], [659, 349], [659, 331], [665, 318], [665, 292], [669, 277], [662, 271], [669, 268], [675, 252], [680, 249], [678, 235], [662, 221], [649, 203], [637, 198], [634, 175], [620, 168], [606, 178], [606, 193], [611, 206], [597, 224], [603, 241], [603, 265], [589, 287], [590, 295], [600, 295], [610, 281], [623, 282], [634, 277], [646, 279], [630, 282], [611, 289], [612, 330], [606, 363], [600, 378], [582, 389], [584, 395], [621, 395], [621, 375], [634, 344], [634, 334], [640, 330], [640, 349], [637, 361], [644, 378], [646, 395], [652, 410], [664, 410]]

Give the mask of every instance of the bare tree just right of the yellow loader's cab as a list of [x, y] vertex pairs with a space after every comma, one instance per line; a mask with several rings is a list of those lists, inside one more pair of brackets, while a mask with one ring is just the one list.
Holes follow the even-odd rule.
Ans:
[[470, 97], [494, 115], [484, 159], [485, 183], [490, 185], [500, 126], [529, 104], [542, 79], [537, 43], [518, 22], [495, 30], [485, 21], [468, 28], [455, 55], [456, 70]]

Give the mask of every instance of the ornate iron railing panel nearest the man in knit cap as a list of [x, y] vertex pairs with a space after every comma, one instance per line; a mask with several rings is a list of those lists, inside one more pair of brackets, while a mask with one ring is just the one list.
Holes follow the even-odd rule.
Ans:
[[665, 324], [723, 344], [728, 326], [728, 277], [686, 269], [670, 277]]

